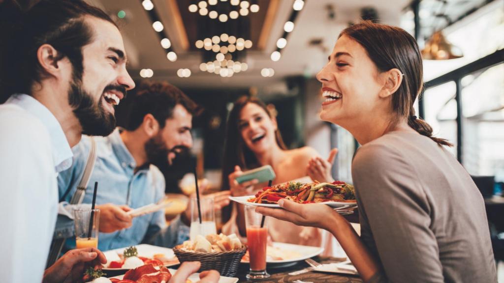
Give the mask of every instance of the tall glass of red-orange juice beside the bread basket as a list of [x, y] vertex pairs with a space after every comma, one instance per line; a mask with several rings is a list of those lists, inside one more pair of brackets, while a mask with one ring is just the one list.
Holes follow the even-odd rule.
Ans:
[[[245, 205], [245, 224], [247, 230], [248, 254], [250, 257], [250, 272], [247, 279], [263, 279], [270, 277], [266, 272], [266, 245], [268, 243], [267, 221], [263, 215], [256, 213], [255, 206]], [[261, 226], [261, 224], [263, 224]]]

